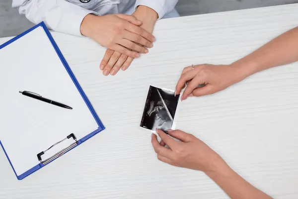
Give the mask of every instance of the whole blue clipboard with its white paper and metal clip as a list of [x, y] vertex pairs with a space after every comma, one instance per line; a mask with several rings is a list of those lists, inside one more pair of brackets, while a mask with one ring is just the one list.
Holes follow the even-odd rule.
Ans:
[[[9, 55], [10, 51], [14, 52], [13, 48], [19, 49], [18, 46], [22, 46], [22, 41], [25, 42], [26, 39], [29, 39], [29, 38], [32, 39], [34, 35], [30, 37], [30, 34], [40, 35], [40, 38], [36, 38], [36, 39], [40, 39], [41, 42], [45, 43], [47, 46], [47, 47], [45, 47], [46, 50], [42, 49], [42, 48], [40, 48], [40, 50], [50, 52], [49, 54], [51, 54], [53, 57], [49, 60], [56, 60], [56, 62], [53, 61], [53, 63], [58, 63], [58, 64], [55, 64], [55, 67], [58, 70], [58, 72], [57, 73], [53, 72], [53, 74], [55, 74], [55, 77], [53, 77], [53, 79], [54, 79], [53, 82], [60, 81], [60, 84], [57, 83], [58, 85], [56, 85], [56, 87], [54, 87], [50, 83], [47, 83], [43, 86], [48, 87], [48, 88], [56, 88], [56, 91], [52, 92], [52, 96], [57, 95], [56, 98], [59, 98], [60, 96], [62, 96], [61, 94], [63, 94], [64, 98], [61, 100], [67, 100], [70, 103], [73, 102], [76, 106], [79, 106], [79, 107], [74, 112], [71, 112], [73, 110], [64, 110], [61, 107], [54, 107], [55, 105], [53, 105], [53, 104], [47, 104], [42, 101], [30, 99], [29, 97], [25, 97], [20, 94], [17, 96], [15, 94], [16, 91], [13, 91], [13, 98], [9, 99], [9, 101], [12, 100], [11, 104], [18, 106], [17, 108], [14, 109], [14, 111], [19, 110], [22, 107], [26, 108], [27, 110], [31, 110], [28, 108], [32, 108], [33, 110], [29, 111], [29, 113], [20, 112], [20, 115], [27, 115], [28, 118], [31, 115], [33, 118], [31, 118], [30, 120], [28, 119], [28, 121], [30, 121], [31, 123], [34, 122], [34, 118], [35, 119], [41, 118], [42, 116], [40, 114], [44, 114], [47, 117], [45, 119], [41, 119], [40, 123], [37, 123], [34, 125], [31, 125], [31, 123], [29, 123], [29, 124], [24, 123], [26, 121], [21, 120], [21, 122], [23, 122], [23, 124], [25, 124], [25, 127], [27, 129], [29, 129], [24, 132], [19, 131], [19, 129], [21, 127], [18, 127], [18, 130], [15, 130], [17, 132], [15, 132], [13, 130], [15, 126], [11, 126], [11, 128], [8, 128], [9, 126], [8, 127], [6, 126], [6, 128], [4, 128], [4, 130], [0, 129], [0, 131], [2, 131], [2, 133], [0, 132], [0, 145], [1, 145], [5, 155], [13, 169], [13, 172], [18, 180], [22, 180], [25, 177], [36, 172], [37, 170], [43, 168], [44, 166], [52, 163], [57, 158], [61, 157], [65, 153], [69, 152], [70, 150], [74, 149], [75, 147], [77, 147], [80, 144], [82, 144], [83, 142], [85, 142], [87, 139], [91, 138], [95, 134], [97, 134], [100, 131], [105, 129], [104, 125], [102, 124], [101, 120], [99, 119], [98, 115], [96, 114], [94, 108], [92, 107], [90, 101], [88, 100], [87, 96], [83, 92], [78, 81], [76, 80], [74, 73], [72, 72], [67, 61], [65, 60], [61, 51], [59, 50], [56, 42], [54, 41], [51, 33], [47, 29], [44, 22], [41, 22], [41, 23], [35, 25], [34, 27], [30, 28], [29, 30], [25, 31], [24, 33], [12, 38], [11, 40], [7, 41], [6, 43], [0, 45], [0, 63], [1, 63], [1, 58], [3, 59], [3, 57], [4, 57], [4, 55], [1, 57], [2, 49], [6, 49], [6, 51], [5, 51], [6, 54], [5, 53], [4, 54]], [[19, 41], [19, 42], [17, 43], [17, 41]], [[17, 44], [15, 44], [15, 43], [17, 43]], [[31, 50], [34, 49], [34, 45], [36, 47], [38, 47], [39, 46], [38, 43], [39, 43], [39, 41], [36, 41], [35, 44], [32, 44], [33, 47], [30, 46], [30, 49]], [[9, 46], [11, 46], [11, 49], [9, 48]], [[24, 50], [25, 49], [26, 49], [26, 47], [24, 47]], [[30, 52], [26, 52], [26, 53], [28, 55], [30, 55]], [[21, 54], [22, 53], [18, 53], [16, 55], [11, 55], [11, 56], [12, 57], [18, 56], [18, 55], [21, 56]], [[54, 57], [54, 55], [57, 57], [57, 59]], [[44, 53], [41, 54], [41, 56], [36, 58], [37, 61], [34, 63], [42, 63], [42, 60], [38, 60], [38, 59], [41, 59], [40, 57], [41, 58], [46, 57], [46, 55], [44, 55]], [[28, 56], [23, 57], [23, 58], [29, 59]], [[15, 59], [17, 59], [17, 57], [15, 57]], [[18, 62], [16, 62], [16, 63], [18, 63]], [[19, 63], [22, 63], [22, 62], [19, 62]], [[63, 65], [64, 67], [61, 66], [59, 68], [56, 65]], [[9, 67], [13, 67], [13, 66], [9, 66]], [[18, 66], [18, 67], [19, 67], [19, 69], [22, 69], [22, 68], [20, 68], [20, 66]], [[47, 77], [47, 74], [49, 74], [49, 71], [51, 69], [47, 68], [48, 72], [42, 72], [42, 70], [45, 69], [45, 68], [43, 68], [43, 66], [40, 66], [40, 67], [34, 66], [34, 67], [35, 67], [34, 69], [37, 69], [36, 70], [37, 74], [38, 74], [38, 72], [40, 72], [40, 74], [42, 74], [44, 76], [44, 77], [41, 77], [38, 79], [40, 81], [37, 84], [43, 84], [42, 83], [43, 79], [45, 79], [45, 80], [47, 80], [47, 78], [49, 79], [49, 77]], [[53, 67], [53, 68], [55, 68], [55, 67]], [[61, 69], [61, 68], [64, 68], [64, 69]], [[24, 69], [24, 71], [25, 71], [25, 69]], [[15, 70], [13, 71], [12, 69], [11, 70], [7, 69], [4, 72], [6, 72], [7, 74], [2, 73], [2, 78], [4, 78], [4, 79], [6, 78], [7, 82], [9, 82], [11, 80], [11, 82], [12, 82], [12, 83], [10, 83], [10, 84], [12, 84], [12, 85], [10, 85], [11, 88], [22, 87], [22, 86], [25, 87], [28, 85], [29, 85], [28, 87], [30, 87], [30, 84], [26, 85], [25, 84], [26, 82], [24, 82], [24, 81], [27, 81], [27, 80], [29, 81], [31, 78], [34, 79], [34, 77], [36, 77], [36, 76], [34, 76], [34, 74], [30, 73], [30, 77], [23, 78], [23, 80], [19, 80], [20, 78], [13, 79], [13, 78], [16, 78], [13, 73], [17, 73], [18, 71], [15, 71]], [[1, 71], [0, 71], [0, 73], [1, 73]], [[60, 73], [61, 73], [60, 76], [56, 75], [56, 74], [60, 74]], [[29, 74], [29, 72], [28, 72], [28, 74]], [[3, 75], [5, 75], [5, 76], [3, 76]], [[19, 77], [20, 77], [20, 75], [19, 75]], [[18, 82], [16, 84], [16, 83], [14, 83], [15, 82], [14, 80], [20, 81], [20, 82]], [[23, 82], [21, 82], [21, 81], [23, 81]], [[9, 84], [9, 83], [7, 83], [7, 84]], [[68, 87], [67, 87], [67, 85], [68, 85]], [[60, 87], [61, 87], [62, 91], [57, 92], [57, 90], [59, 90]], [[34, 84], [31, 84], [31, 88], [37, 88], [37, 90], [38, 90], [38, 88], [40, 88], [40, 91], [44, 92], [44, 95], [48, 94], [48, 91], [49, 91], [49, 89], [43, 91], [41, 89], [42, 86], [38, 86], [38, 85], [34, 86]], [[67, 89], [65, 89], [65, 88], [67, 88]], [[9, 88], [6, 90], [4, 89], [4, 91], [7, 91], [7, 96], [9, 96], [9, 94], [10, 94]], [[72, 91], [72, 92], [69, 92], [69, 94], [72, 95], [72, 97], [68, 97], [68, 91]], [[58, 95], [56, 93], [60, 93], [60, 94]], [[51, 96], [49, 94], [49, 98], [50, 97]], [[15, 100], [16, 98], [17, 98], [17, 100]], [[13, 103], [14, 100], [21, 102], [21, 103], [16, 103], [16, 102]], [[53, 100], [55, 100], [55, 99], [53, 99]], [[76, 108], [75, 105], [74, 105], [74, 109]], [[36, 108], [35, 106], [38, 106], [38, 107]], [[19, 116], [18, 114], [15, 114], [15, 112], [10, 113], [9, 109], [8, 109], [9, 107], [7, 107], [7, 109], [5, 109], [5, 108], [6, 107], [4, 107], [4, 112], [6, 110], [5, 113], [7, 114], [7, 116], [5, 116], [5, 115], [1, 116], [1, 113], [0, 113], [0, 118], [2, 117], [1, 119], [3, 119], [3, 118], [6, 119], [6, 117], [13, 118], [14, 116], [15, 117]], [[67, 112], [67, 111], [69, 111], [69, 112]], [[56, 112], [57, 112], [57, 114], [56, 114]], [[52, 114], [52, 117], [50, 117], [48, 114]], [[55, 115], [58, 118], [55, 118]], [[64, 127], [63, 124], [61, 124], [61, 123], [57, 123], [56, 120], [58, 120], [59, 117], [60, 117], [60, 119], [62, 118], [61, 120], [63, 122], [65, 122], [66, 124], [68, 124], [69, 127], [71, 127], [72, 130], [76, 131], [76, 132], [61, 132], [59, 130], [59, 127], [63, 127], [63, 129], [67, 129], [67, 127]], [[82, 117], [82, 118], [80, 118], [80, 117]], [[47, 121], [48, 118], [53, 118], [54, 123], [50, 123], [49, 121]], [[72, 121], [72, 119], [73, 119], [73, 121]], [[81, 121], [81, 120], [83, 120], [84, 122], [82, 124], [78, 124], [79, 121]], [[47, 123], [47, 122], [49, 122], [49, 123]], [[57, 125], [55, 124], [55, 122], [57, 123]], [[84, 123], [86, 123], [86, 124], [84, 124]], [[43, 124], [51, 124], [51, 126], [49, 126], [49, 128], [47, 128], [47, 127], [44, 127]], [[17, 125], [18, 125], [18, 123], [16, 124], [16, 126]], [[74, 126], [72, 126], [72, 125], [74, 125]], [[36, 129], [38, 129], [39, 127], [40, 127], [40, 131], [36, 132]], [[33, 130], [35, 129], [34, 133], [33, 133], [32, 129]], [[49, 129], [55, 129], [55, 130], [53, 130], [51, 132]], [[47, 130], [49, 130], [49, 132], [45, 133]], [[3, 132], [3, 131], [7, 131], [7, 132]], [[7, 135], [8, 132], [10, 132], [10, 134], [12, 133], [14, 135]], [[15, 136], [15, 135], [17, 135], [17, 136]], [[26, 141], [24, 141], [24, 138], [26, 139]], [[27, 142], [27, 143], [24, 143], [24, 142]], [[44, 143], [46, 143], [46, 144], [43, 145]], [[15, 149], [13, 147], [15, 147]], [[19, 150], [19, 157], [18, 157], [17, 150]], [[34, 154], [28, 154], [28, 155], [22, 154], [22, 152], [24, 153], [24, 151], [30, 151], [30, 150], [34, 151], [33, 152]], [[49, 153], [49, 152], [51, 152], [51, 153]], [[27, 162], [27, 159], [25, 159], [26, 157], [27, 158], [29, 157], [28, 160], [30, 159], [30, 161]], [[20, 160], [20, 159], [22, 159], [22, 160]], [[34, 163], [38, 163], [38, 164], [34, 165]], [[26, 166], [23, 166], [25, 164], [26, 164]], [[32, 167], [30, 165], [32, 165]]]

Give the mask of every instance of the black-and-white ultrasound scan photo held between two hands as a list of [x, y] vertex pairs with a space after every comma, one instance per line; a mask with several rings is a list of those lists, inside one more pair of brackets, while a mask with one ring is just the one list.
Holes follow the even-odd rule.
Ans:
[[175, 97], [173, 91], [150, 86], [140, 126], [153, 131], [171, 129], [179, 96]]

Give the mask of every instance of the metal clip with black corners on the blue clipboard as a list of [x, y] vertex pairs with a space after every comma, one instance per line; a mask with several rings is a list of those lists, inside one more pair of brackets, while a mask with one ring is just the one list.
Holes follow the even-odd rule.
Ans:
[[[67, 140], [67, 139], [70, 139], [70, 138], [73, 138], [74, 139], [74, 143], [72, 143], [71, 145], [69, 145], [68, 147], [66, 147], [65, 149], [59, 151], [58, 153], [56, 153], [55, 155], [51, 156], [50, 158], [42, 161], [41, 159], [41, 156], [44, 155], [48, 150], [50, 150], [51, 148], [53, 148], [54, 146], [56, 146], [57, 144], [63, 142], [64, 140]], [[42, 151], [40, 152], [39, 154], [37, 154], [37, 158], [39, 160], [39, 162], [43, 165], [46, 165], [48, 164], [49, 162], [51, 162], [52, 160], [62, 156], [63, 154], [65, 154], [66, 152], [68, 152], [69, 150], [71, 150], [72, 148], [74, 148], [75, 146], [77, 146], [77, 140], [76, 140], [76, 137], [74, 135], [74, 133], [68, 135], [66, 138], [64, 138], [63, 140], [53, 144], [50, 148], [48, 148], [47, 150], [45, 151]]]

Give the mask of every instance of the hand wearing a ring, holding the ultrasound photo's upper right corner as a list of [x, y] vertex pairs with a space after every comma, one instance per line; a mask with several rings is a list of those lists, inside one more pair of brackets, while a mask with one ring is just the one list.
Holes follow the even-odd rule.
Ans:
[[[181, 93], [186, 86], [181, 100], [191, 96], [205, 96], [222, 91], [227, 87], [240, 82], [245, 76], [236, 65], [196, 65], [184, 68], [177, 83], [175, 94]], [[205, 85], [198, 88], [199, 85]]]

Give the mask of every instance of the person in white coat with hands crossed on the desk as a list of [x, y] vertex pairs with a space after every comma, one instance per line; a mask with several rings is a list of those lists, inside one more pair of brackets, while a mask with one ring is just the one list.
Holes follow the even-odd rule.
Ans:
[[31, 22], [49, 29], [87, 36], [107, 48], [100, 69], [104, 75], [126, 70], [155, 41], [156, 20], [179, 16], [178, 0], [12, 0]]

